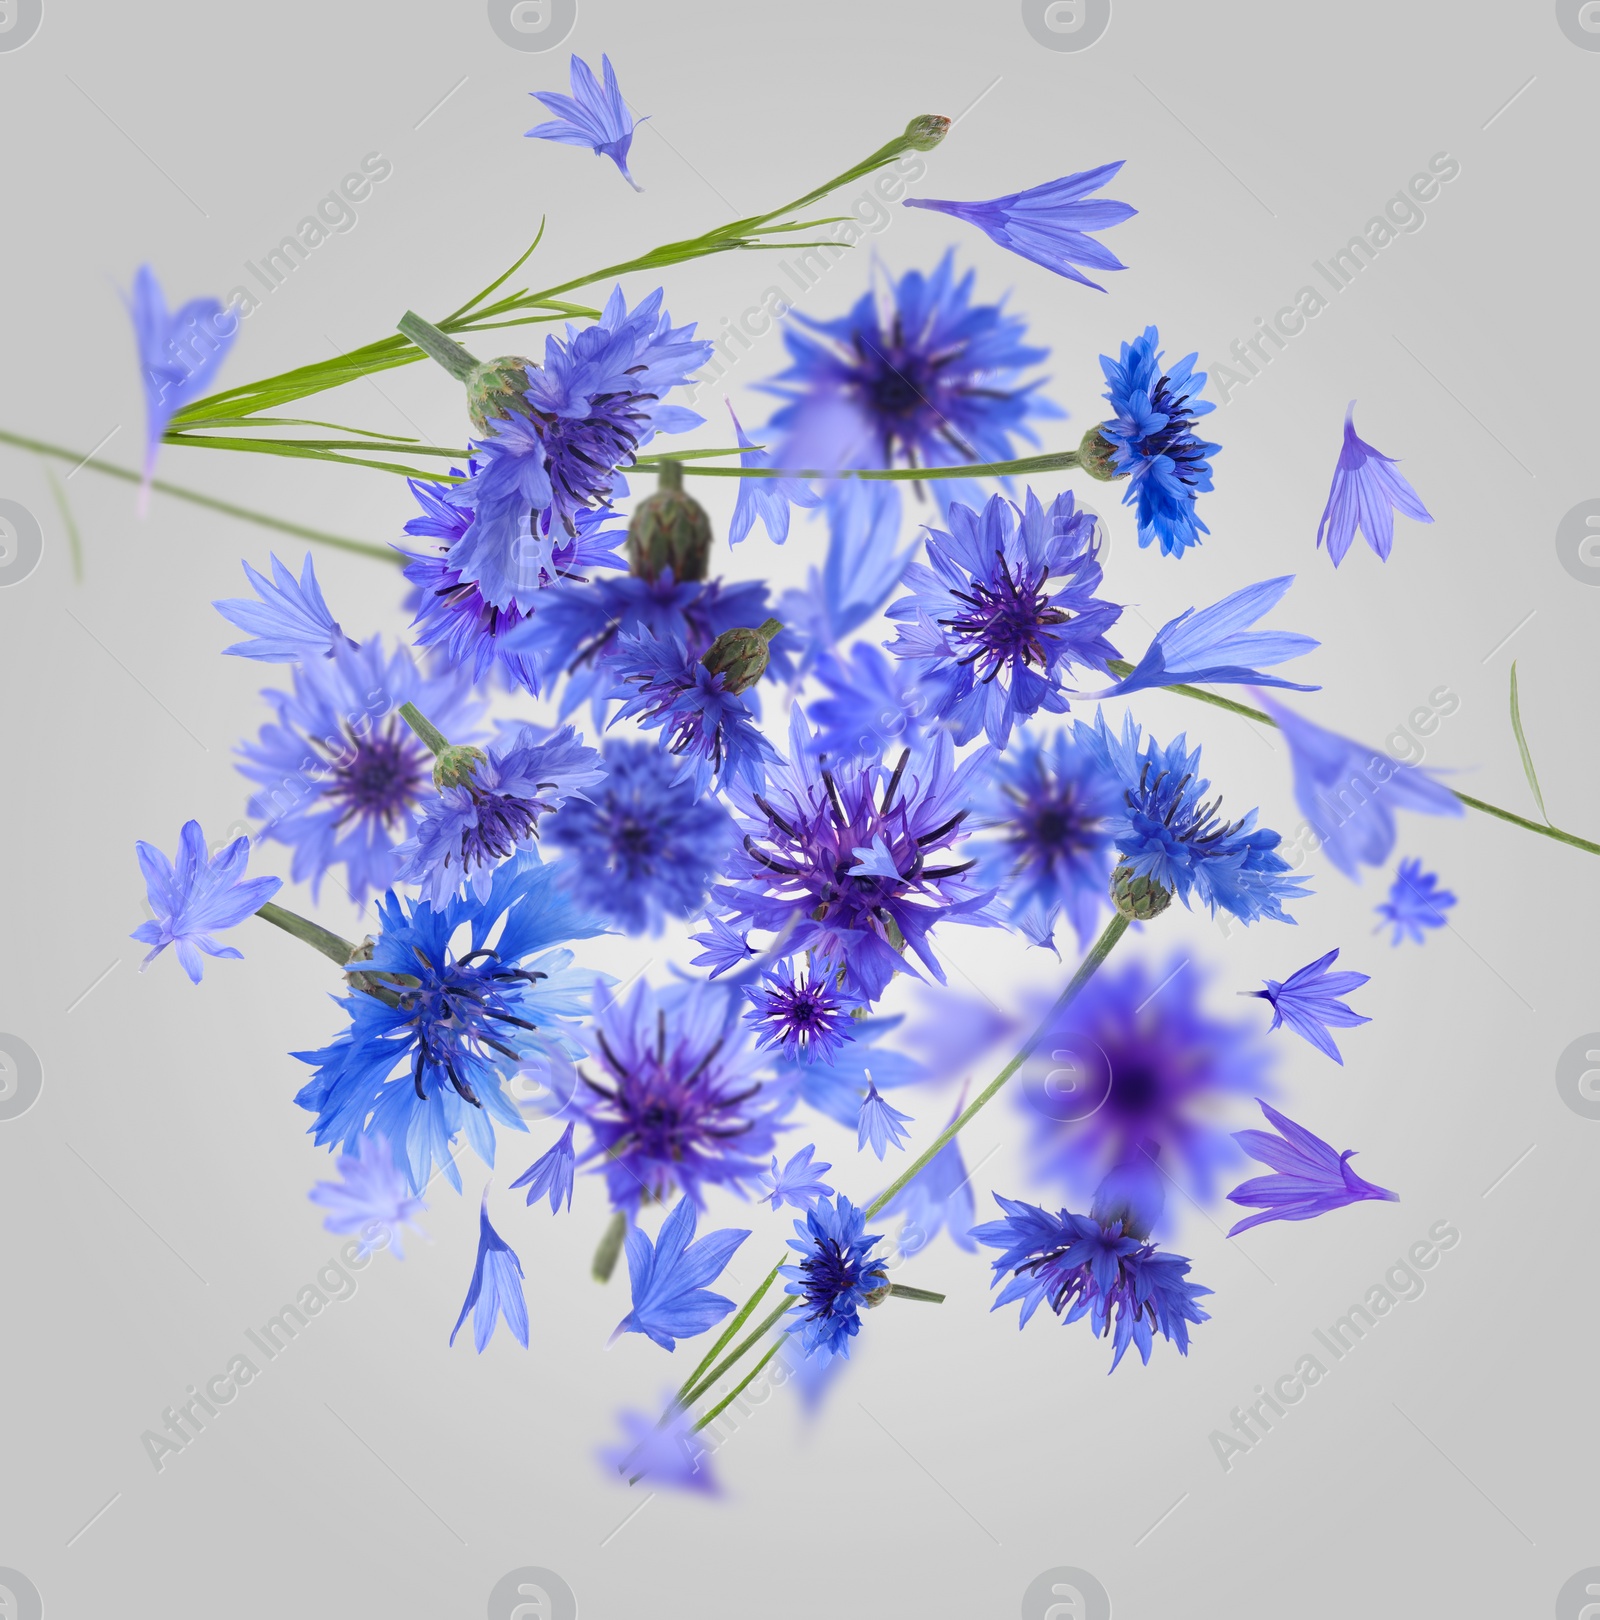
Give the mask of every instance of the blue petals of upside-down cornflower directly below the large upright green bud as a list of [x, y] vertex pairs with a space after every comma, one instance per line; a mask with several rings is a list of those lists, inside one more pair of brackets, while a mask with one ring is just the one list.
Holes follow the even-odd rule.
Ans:
[[[662, 569], [653, 580], [632, 573], [588, 585], [560, 585], [539, 599], [539, 611], [507, 637], [509, 651], [525, 656], [544, 680], [564, 680], [560, 714], [565, 719], [588, 701], [596, 726], [609, 701], [625, 697], [615, 669], [619, 642], [649, 632], [657, 642], [680, 640], [693, 658], [735, 625], [768, 617], [766, 586], [758, 580], [683, 580]], [[774, 637], [768, 674], [787, 667], [787, 635]]]

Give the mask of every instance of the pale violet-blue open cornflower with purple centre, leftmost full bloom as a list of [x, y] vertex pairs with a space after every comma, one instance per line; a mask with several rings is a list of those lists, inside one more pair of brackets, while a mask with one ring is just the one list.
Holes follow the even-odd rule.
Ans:
[[432, 755], [400, 719], [415, 703], [455, 742], [481, 737], [483, 700], [465, 674], [424, 676], [382, 638], [337, 646], [296, 666], [293, 692], [262, 693], [277, 711], [254, 742], [240, 744], [240, 773], [257, 784], [248, 810], [261, 838], [295, 850], [290, 876], [317, 896], [329, 868], [345, 867], [356, 906], [395, 881], [395, 846], [416, 831], [432, 797]]

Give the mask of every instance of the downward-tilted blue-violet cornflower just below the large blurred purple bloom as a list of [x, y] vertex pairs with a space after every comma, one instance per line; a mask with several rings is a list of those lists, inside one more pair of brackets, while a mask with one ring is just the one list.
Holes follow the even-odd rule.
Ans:
[[1048, 1213], [1036, 1204], [1022, 1204], [994, 1194], [1004, 1220], [975, 1226], [972, 1234], [991, 1249], [1001, 1249], [994, 1283], [1006, 1273], [1011, 1281], [993, 1309], [1022, 1301], [1019, 1327], [1048, 1304], [1061, 1320], [1087, 1315], [1095, 1333], [1111, 1335], [1116, 1372], [1129, 1345], [1138, 1348], [1148, 1366], [1155, 1335], [1161, 1333], [1189, 1354], [1189, 1324], [1210, 1320], [1200, 1307], [1211, 1293], [1187, 1281], [1189, 1260], [1163, 1254], [1147, 1243], [1148, 1226], [1135, 1217], [1127, 1200], [1101, 1200], [1090, 1215], [1061, 1210]]

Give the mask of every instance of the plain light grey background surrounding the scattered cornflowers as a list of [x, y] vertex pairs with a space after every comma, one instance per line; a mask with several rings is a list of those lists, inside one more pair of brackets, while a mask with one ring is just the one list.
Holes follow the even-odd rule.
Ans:
[[[1428, 763], [1532, 813], [1506, 719], [1517, 658], [1551, 815], [1595, 833], [1600, 595], [1563, 567], [1556, 528], [1600, 496], [1600, 55], [1547, 3], [1119, 0], [1113, 13], [1093, 49], [1057, 52], [1011, 3], [583, 0], [562, 50], [538, 55], [466, 0], [45, 0], [37, 36], [0, 53], [0, 415], [138, 460], [118, 288], [149, 259], [173, 301], [225, 293], [366, 152], [392, 178], [251, 316], [223, 382], [368, 342], [406, 306], [453, 308], [541, 212], [538, 274], [555, 280], [798, 194], [910, 115], [944, 112], [964, 117], [923, 196], [993, 196], [1126, 157], [1109, 190], [1140, 214], [1109, 240], [1132, 269], [1101, 296], [896, 209], [802, 308], [842, 311], [871, 253], [899, 272], [955, 240], [980, 292], [1011, 290], [1054, 350], [1049, 392], [1072, 411], [1062, 442], [1077, 442], [1096, 420], [1101, 350], [1156, 321], [1169, 353], [1224, 360], [1313, 282], [1312, 259], [1449, 152], [1461, 175], [1425, 225], [1210, 418], [1226, 449], [1205, 548], [1182, 562], [1140, 552], [1103, 502], [1109, 595], [1158, 625], [1296, 570], [1274, 622], [1323, 640], [1300, 666], [1326, 687], [1305, 711], [1377, 742], [1448, 685], [1461, 706]], [[521, 139], [539, 117], [526, 92], [565, 87], [568, 49], [596, 63], [609, 50], [653, 113], [633, 156], [643, 196], [586, 152]], [[714, 330], [772, 280], [769, 256], [691, 264], [670, 274], [669, 301]], [[747, 423], [763, 415], [751, 384], [779, 363], [774, 332], [729, 376]], [[442, 374], [379, 384], [314, 413], [460, 434]], [[1359, 546], [1334, 573], [1312, 539], [1349, 399], [1436, 522], [1401, 522], [1386, 567]], [[726, 437], [713, 423], [698, 442]], [[410, 512], [379, 473], [202, 452], [168, 452], [162, 473], [379, 541]], [[465, 1197], [432, 1189], [431, 1243], [408, 1244], [403, 1265], [381, 1256], [154, 1473], [141, 1430], [337, 1247], [304, 1197], [329, 1162], [290, 1105], [303, 1069], [285, 1056], [337, 1027], [322, 964], [245, 928], [248, 959], [211, 964], [194, 990], [170, 959], [141, 977], [128, 940], [143, 915], [133, 839], [170, 850], [186, 816], [220, 838], [243, 812], [230, 748], [262, 719], [261, 671], [215, 656], [230, 635], [207, 603], [238, 593], [241, 556], [261, 565], [275, 544], [298, 562], [303, 548], [162, 497], [141, 523], [131, 489], [92, 470], [65, 488], [83, 583], [40, 465], [0, 449], [0, 496], [44, 530], [37, 570], [0, 591], [0, 1029], [44, 1069], [39, 1102], [0, 1121], [0, 1562], [47, 1615], [481, 1615], [518, 1567], [559, 1571], [585, 1617], [1011, 1615], [1059, 1567], [1091, 1571], [1119, 1620], [1542, 1615], [1600, 1563], [1600, 1123], [1556, 1089], [1563, 1050], [1600, 1027], [1600, 863], [1482, 816], [1402, 823], [1396, 854], [1423, 855], [1461, 897], [1425, 949], [1370, 935], [1381, 878], [1357, 888], [1315, 860], [1294, 933], [1224, 938], [1174, 909], [1135, 946], [1210, 967], [1210, 1004], [1234, 1014], [1234, 990], [1343, 944], [1341, 966], [1373, 974], [1360, 998], [1373, 1024], [1344, 1038], [1343, 1071], [1281, 1037], [1279, 1097], [1402, 1194], [1232, 1244], [1226, 1218], [1181, 1212], [1177, 1246], [1216, 1290], [1187, 1361], [1161, 1346], [1148, 1369], [1108, 1379], [1082, 1328], [1019, 1335], [1012, 1312], [986, 1314], [985, 1264], [941, 1239], [905, 1275], [949, 1302], [874, 1314], [816, 1422], [774, 1395], [716, 1458], [722, 1500], [646, 1500], [593, 1453], [614, 1409], [651, 1408], [682, 1358], [641, 1338], [601, 1351], [623, 1302], [620, 1283], [586, 1277], [604, 1221], [593, 1186], [560, 1220], [494, 1194], [528, 1270], [533, 1346], [500, 1333], [481, 1359], [447, 1348], [487, 1179], [468, 1163]], [[726, 522], [732, 491], [696, 492]], [[794, 580], [819, 546], [805, 525], [779, 554], [753, 538], [729, 572]], [[402, 632], [381, 565], [329, 552], [317, 565], [347, 627]], [[1132, 612], [1126, 627], [1140, 646]], [[1164, 695], [1140, 713], [1203, 739], [1231, 804], [1297, 821], [1276, 737]], [[287, 852], [269, 846], [257, 870], [287, 872]], [[309, 909], [303, 893], [282, 899]], [[332, 886], [317, 915], [360, 927]], [[619, 975], [654, 959], [659, 974], [679, 938], [585, 959]], [[989, 933], [949, 930], [944, 953], [968, 996], [964, 977], [998, 1003], [1059, 982], [1048, 956]], [[951, 1100], [912, 1100], [923, 1139]], [[1025, 1181], [1022, 1131], [1002, 1102], [967, 1134], [985, 1202], [991, 1186], [1049, 1196]], [[530, 1152], [504, 1153], [497, 1189], [549, 1136], [536, 1126]], [[824, 1129], [819, 1144], [840, 1186], [871, 1191], [853, 1142]], [[738, 1213], [756, 1231], [734, 1262], [748, 1286], [787, 1221]], [[1224, 1474], [1210, 1432], [1441, 1220], [1461, 1241], [1425, 1294]]]

